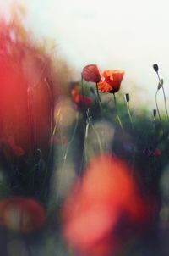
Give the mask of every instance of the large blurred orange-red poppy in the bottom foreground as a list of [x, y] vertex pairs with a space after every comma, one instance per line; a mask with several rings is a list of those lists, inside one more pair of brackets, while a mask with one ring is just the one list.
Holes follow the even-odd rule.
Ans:
[[110, 155], [92, 161], [63, 208], [63, 233], [80, 255], [122, 250], [148, 221], [150, 209], [128, 173]]

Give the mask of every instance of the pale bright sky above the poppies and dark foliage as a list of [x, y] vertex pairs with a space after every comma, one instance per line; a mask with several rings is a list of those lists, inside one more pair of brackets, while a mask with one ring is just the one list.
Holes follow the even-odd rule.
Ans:
[[[0, 0], [0, 7], [9, 2]], [[125, 70], [123, 91], [135, 83], [152, 99], [153, 108], [157, 80], [152, 64], [159, 64], [169, 105], [168, 0], [18, 2], [25, 4], [35, 34], [55, 38], [77, 74], [86, 64], [98, 64], [101, 70]], [[140, 97], [144, 102], [143, 94]]]

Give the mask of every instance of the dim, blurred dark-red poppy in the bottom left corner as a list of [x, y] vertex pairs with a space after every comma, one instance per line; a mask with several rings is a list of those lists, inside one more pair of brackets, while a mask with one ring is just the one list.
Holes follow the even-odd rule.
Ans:
[[35, 231], [46, 220], [45, 209], [31, 198], [12, 197], [0, 201], [0, 224], [14, 231]]

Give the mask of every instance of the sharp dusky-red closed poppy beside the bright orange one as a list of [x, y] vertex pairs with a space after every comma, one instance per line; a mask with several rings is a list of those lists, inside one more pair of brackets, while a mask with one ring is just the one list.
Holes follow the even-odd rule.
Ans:
[[100, 72], [97, 68], [97, 65], [95, 64], [85, 66], [85, 68], [82, 70], [82, 77], [85, 81], [91, 81], [95, 83], [101, 80]]

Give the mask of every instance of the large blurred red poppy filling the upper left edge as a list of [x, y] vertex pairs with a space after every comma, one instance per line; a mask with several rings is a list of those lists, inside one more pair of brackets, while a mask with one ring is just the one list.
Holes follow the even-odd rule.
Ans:
[[17, 137], [19, 146], [14, 152], [21, 155], [23, 148], [32, 155], [33, 147], [46, 149], [50, 138], [52, 103], [44, 81], [50, 75], [45, 53], [29, 40], [18, 42], [19, 31], [21, 26], [0, 21], [0, 136]]

